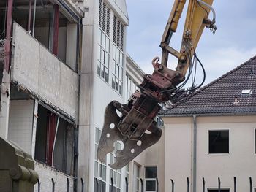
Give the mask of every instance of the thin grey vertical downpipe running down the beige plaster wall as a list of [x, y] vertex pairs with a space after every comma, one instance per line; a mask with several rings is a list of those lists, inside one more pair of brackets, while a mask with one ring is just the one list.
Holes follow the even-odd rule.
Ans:
[[193, 115], [193, 192], [196, 192], [197, 185], [197, 116]]

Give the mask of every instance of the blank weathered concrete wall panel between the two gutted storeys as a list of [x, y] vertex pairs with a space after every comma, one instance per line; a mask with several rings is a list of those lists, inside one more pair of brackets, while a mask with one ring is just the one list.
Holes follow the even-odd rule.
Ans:
[[12, 81], [75, 118], [78, 74], [61, 63], [17, 23], [13, 25], [13, 34]]

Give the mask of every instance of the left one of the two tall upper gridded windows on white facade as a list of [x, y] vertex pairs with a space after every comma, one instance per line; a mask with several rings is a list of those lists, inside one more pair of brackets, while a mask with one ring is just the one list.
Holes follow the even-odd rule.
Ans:
[[110, 9], [107, 5], [99, 1], [99, 31], [98, 31], [98, 64], [97, 74], [105, 82], [109, 82], [110, 63]]

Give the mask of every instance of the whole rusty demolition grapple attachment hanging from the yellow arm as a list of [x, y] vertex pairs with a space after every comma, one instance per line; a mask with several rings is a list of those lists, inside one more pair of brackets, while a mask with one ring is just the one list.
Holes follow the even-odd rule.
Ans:
[[178, 73], [157, 61], [153, 61], [154, 73], [144, 76], [140, 92], [132, 94], [128, 104], [112, 101], [106, 107], [97, 157], [105, 161], [105, 155], [114, 150], [114, 142], [121, 141], [124, 148], [116, 151], [116, 162], [110, 164], [113, 169], [121, 169], [161, 137], [162, 130], [154, 118], [161, 109], [159, 103], [169, 100], [168, 92], [161, 92], [173, 85]]

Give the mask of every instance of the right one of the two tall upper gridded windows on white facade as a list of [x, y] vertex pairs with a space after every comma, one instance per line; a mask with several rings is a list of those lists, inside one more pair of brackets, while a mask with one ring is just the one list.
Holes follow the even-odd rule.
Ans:
[[114, 15], [113, 20], [113, 73], [112, 87], [122, 94], [123, 91], [123, 67], [124, 67], [124, 25]]

